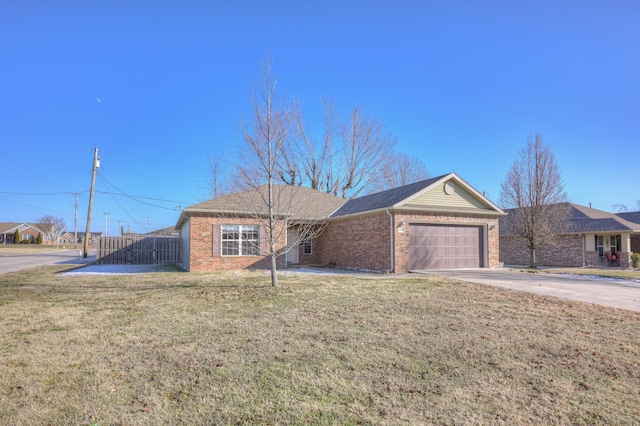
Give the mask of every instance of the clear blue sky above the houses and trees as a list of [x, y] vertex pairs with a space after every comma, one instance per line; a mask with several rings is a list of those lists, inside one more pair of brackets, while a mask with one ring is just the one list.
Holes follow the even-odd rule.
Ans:
[[[498, 201], [527, 135], [572, 202], [640, 209], [636, 1], [21, 1], [0, 6], [0, 221], [146, 232], [207, 198], [269, 54], [322, 131], [359, 105], [420, 158]], [[125, 194], [125, 195], [123, 195]]]

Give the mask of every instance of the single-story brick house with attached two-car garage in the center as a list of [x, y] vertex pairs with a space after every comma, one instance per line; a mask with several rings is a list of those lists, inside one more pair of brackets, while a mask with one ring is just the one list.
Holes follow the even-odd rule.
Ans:
[[[505, 213], [455, 173], [351, 200], [309, 188], [277, 188], [277, 227], [286, 230], [277, 242], [283, 252], [279, 267], [406, 273], [499, 266], [499, 217]], [[257, 220], [265, 213], [263, 197], [249, 190], [183, 210], [176, 224], [183, 266], [193, 272], [266, 267], [266, 230]], [[282, 199], [291, 202], [285, 206]], [[287, 245], [300, 220], [322, 232]]]

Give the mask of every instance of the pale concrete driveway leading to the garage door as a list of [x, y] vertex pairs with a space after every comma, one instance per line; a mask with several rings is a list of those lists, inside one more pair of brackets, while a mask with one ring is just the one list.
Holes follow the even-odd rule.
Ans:
[[640, 282], [516, 269], [411, 271], [640, 312]]

